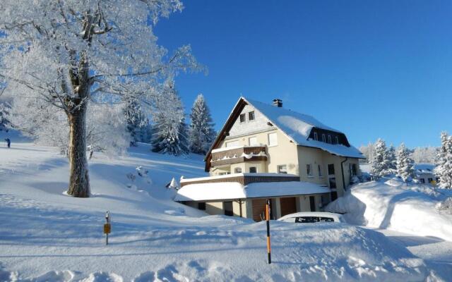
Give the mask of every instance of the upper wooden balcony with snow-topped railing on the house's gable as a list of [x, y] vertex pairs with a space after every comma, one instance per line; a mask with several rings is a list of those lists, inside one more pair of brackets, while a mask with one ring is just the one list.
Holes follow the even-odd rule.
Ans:
[[210, 165], [226, 166], [246, 161], [267, 161], [266, 146], [222, 148], [212, 151]]

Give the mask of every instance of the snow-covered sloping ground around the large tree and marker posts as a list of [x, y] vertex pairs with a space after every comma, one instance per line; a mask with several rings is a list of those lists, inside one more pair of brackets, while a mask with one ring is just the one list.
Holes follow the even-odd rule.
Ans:
[[88, 199], [64, 195], [68, 171], [54, 148], [0, 143], [0, 281], [447, 280], [405, 245], [345, 223], [272, 221], [268, 265], [265, 223], [170, 200], [172, 177], [206, 176], [198, 156], [162, 156], [146, 145], [123, 157], [95, 154]]

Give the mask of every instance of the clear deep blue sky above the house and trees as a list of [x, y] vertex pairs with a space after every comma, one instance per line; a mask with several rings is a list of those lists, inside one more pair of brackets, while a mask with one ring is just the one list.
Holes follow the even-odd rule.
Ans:
[[220, 128], [243, 95], [311, 114], [359, 146], [408, 147], [452, 133], [452, 1], [185, 1], [155, 27], [191, 44], [208, 75], [177, 78], [187, 111], [202, 92]]

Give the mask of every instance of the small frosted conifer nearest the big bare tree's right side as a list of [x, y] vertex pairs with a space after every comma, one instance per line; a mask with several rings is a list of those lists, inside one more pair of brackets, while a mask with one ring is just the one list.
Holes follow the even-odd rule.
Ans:
[[124, 118], [126, 119], [127, 131], [130, 133], [130, 145], [136, 147], [137, 142], [145, 142], [148, 118], [145, 117], [141, 102], [129, 97], [124, 107]]

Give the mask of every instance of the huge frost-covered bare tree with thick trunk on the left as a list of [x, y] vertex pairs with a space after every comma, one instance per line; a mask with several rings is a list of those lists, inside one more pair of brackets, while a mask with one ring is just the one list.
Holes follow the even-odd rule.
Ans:
[[152, 104], [169, 75], [200, 68], [189, 46], [168, 56], [153, 35], [158, 18], [182, 8], [179, 0], [0, 1], [0, 84], [20, 93], [14, 106], [64, 112], [69, 195], [90, 195], [90, 101]]

